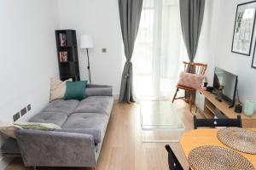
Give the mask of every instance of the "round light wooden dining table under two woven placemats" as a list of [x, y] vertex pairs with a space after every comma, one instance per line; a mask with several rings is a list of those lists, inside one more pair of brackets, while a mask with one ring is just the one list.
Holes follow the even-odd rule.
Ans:
[[[251, 128], [251, 130], [256, 131], [256, 128]], [[184, 133], [180, 140], [180, 144], [186, 158], [188, 159], [189, 152], [191, 150], [204, 145], [217, 145], [232, 150], [230, 147], [222, 144], [218, 140], [217, 133], [218, 128], [200, 128]], [[246, 157], [247, 160], [250, 161], [253, 164], [253, 167], [256, 169], [256, 155], [246, 154], [237, 150], [234, 151]]]

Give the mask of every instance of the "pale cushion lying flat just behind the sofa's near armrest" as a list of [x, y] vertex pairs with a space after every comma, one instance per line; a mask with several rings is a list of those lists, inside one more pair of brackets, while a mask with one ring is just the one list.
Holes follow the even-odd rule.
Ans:
[[53, 123], [15, 122], [14, 124], [16, 126], [24, 128], [24, 129], [33, 129], [33, 130], [53, 131], [55, 129], [61, 129], [61, 127], [59, 127]]

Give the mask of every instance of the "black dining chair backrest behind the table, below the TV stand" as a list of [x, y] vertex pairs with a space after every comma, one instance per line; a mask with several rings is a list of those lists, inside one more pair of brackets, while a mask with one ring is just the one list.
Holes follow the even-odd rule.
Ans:
[[197, 119], [194, 116], [194, 128], [197, 127], [241, 127], [241, 116], [237, 116], [237, 119]]

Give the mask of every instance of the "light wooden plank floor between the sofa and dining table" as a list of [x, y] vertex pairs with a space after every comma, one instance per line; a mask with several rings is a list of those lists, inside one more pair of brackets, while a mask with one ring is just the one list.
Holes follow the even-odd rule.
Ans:
[[[189, 105], [182, 100], [174, 104], [185, 124], [185, 131], [193, 128]], [[96, 170], [167, 170], [165, 144], [145, 144], [141, 140], [140, 107], [137, 104], [115, 104], [102, 145]], [[189, 169], [180, 144], [170, 144], [184, 169]], [[5, 170], [32, 170], [16, 158]], [[75, 167], [38, 167], [38, 170], [87, 170]]]

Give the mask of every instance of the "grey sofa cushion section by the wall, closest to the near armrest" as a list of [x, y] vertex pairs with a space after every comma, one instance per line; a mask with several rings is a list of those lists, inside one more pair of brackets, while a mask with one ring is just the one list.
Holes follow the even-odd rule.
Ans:
[[67, 115], [63, 113], [55, 112], [43, 112], [38, 115], [32, 116], [29, 122], [43, 122], [43, 123], [53, 123], [59, 127], [62, 126], [67, 120]]

